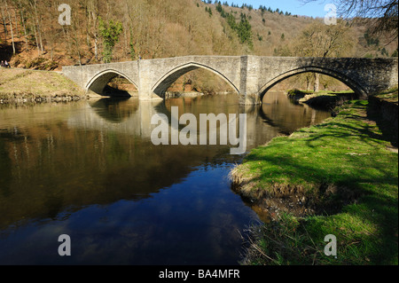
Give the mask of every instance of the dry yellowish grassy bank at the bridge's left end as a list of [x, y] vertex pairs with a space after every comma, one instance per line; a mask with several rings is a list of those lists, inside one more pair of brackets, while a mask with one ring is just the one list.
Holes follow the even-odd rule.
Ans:
[[0, 68], [0, 103], [68, 101], [84, 97], [83, 90], [57, 72]]

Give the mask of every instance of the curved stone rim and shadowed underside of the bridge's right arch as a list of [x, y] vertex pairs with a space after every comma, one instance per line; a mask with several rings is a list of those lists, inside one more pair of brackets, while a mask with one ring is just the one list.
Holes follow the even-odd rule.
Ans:
[[276, 84], [286, 80], [287, 78], [293, 76], [293, 75], [300, 75], [303, 73], [318, 73], [321, 75], [329, 75], [332, 76], [333, 78], [339, 80], [341, 83], [345, 83], [348, 85], [348, 87], [352, 90], [355, 91], [357, 95], [360, 97], [367, 97], [367, 91], [364, 90], [364, 87], [360, 84], [357, 83], [356, 81], [352, 80], [351, 78], [348, 77], [348, 75], [344, 75], [340, 72], [324, 68], [324, 67], [299, 67], [293, 70], [290, 70], [286, 73], [283, 73], [281, 75], [278, 75], [277, 77], [271, 79], [268, 83], [264, 84], [262, 88], [258, 91], [258, 95], [260, 96], [260, 99], [262, 101], [264, 95], [268, 90], [270, 90], [273, 86]]

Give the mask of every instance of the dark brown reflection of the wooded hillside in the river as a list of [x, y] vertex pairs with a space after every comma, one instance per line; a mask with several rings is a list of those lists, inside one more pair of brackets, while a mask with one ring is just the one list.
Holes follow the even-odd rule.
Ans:
[[[97, 113], [99, 109], [104, 114], [114, 104], [121, 104], [117, 109], [129, 108], [124, 103], [101, 99], [94, 107], [82, 111], [94, 109]], [[168, 113], [162, 104], [155, 108]], [[110, 120], [109, 114], [83, 116], [89, 121], [96, 116]], [[21, 140], [1, 138], [0, 145], [4, 147], [1, 153], [9, 160], [6, 163], [2, 158], [2, 164], [7, 165], [4, 170], [1, 167], [2, 175], [8, 176], [2, 180], [7, 181], [2, 192], [8, 188], [8, 193], [0, 195], [0, 203], [4, 204], [0, 206], [1, 228], [23, 224], [21, 219], [25, 222], [57, 218], [65, 209], [73, 211], [93, 204], [148, 198], [161, 188], [178, 184], [197, 166], [223, 163], [221, 149], [215, 146], [155, 146], [147, 138], [129, 131], [109, 130], [106, 124], [98, 123], [96, 126], [104, 128], [96, 129], [82, 120], [78, 125], [81, 128], [74, 130], [66, 122], [48, 121], [45, 131], [42, 125], [25, 129], [26, 138]]]

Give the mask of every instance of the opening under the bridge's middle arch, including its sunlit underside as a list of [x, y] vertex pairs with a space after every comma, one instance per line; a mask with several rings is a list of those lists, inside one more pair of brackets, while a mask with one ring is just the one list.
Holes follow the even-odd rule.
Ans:
[[170, 70], [153, 86], [153, 93], [161, 98], [234, 92], [239, 90], [226, 76], [197, 63]]

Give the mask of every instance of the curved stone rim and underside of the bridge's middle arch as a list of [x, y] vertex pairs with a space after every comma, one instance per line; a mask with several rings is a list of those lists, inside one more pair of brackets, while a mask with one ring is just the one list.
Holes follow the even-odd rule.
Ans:
[[219, 77], [221, 77], [223, 79], [223, 81], [228, 83], [231, 86], [231, 88], [233, 90], [236, 90], [236, 92], [239, 94], [239, 88], [234, 83], [232, 83], [231, 80], [229, 80], [229, 78], [227, 78], [221, 72], [215, 70], [215, 68], [213, 68], [213, 67], [208, 67], [207, 65], [203, 65], [203, 64], [195, 63], [195, 62], [186, 63], [179, 67], [175, 67], [171, 70], [168, 70], [168, 72], [166, 74], [162, 75], [160, 77], [160, 79], [153, 85], [153, 87], [152, 87], [153, 93], [155, 93], [158, 96], [160, 96], [161, 98], [163, 98], [165, 96], [165, 91], [168, 90], [168, 87], [172, 83], [176, 82], [176, 80], [180, 76], [182, 76], [192, 70], [199, 69], [199, 68], [206, 69], [206, 70], [214, 73], [215, 75], [218, 75]]

